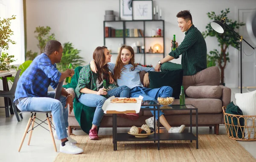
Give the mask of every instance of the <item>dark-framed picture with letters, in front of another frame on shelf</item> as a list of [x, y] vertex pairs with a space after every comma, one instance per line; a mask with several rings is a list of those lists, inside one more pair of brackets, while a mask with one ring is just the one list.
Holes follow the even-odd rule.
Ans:
[[132, 20], [153, 20], [153, 1], [133, 0]]

